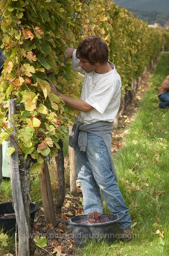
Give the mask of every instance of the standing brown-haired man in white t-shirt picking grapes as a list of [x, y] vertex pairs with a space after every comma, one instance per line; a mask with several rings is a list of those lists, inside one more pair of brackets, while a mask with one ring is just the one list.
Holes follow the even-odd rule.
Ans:
[[[107, 207], [119, 216], [120, 240], [131, 239], [129, 208], [117, 185], [117, 175], [111, 156], [113, 120], [118, 113], [121, 79], [113, 63], [108, 61], [108, 47], [98, 36], [89, 36], [77, 50], [67, 48], [74, 71], [84, 74], [81, 98], [74, 99], [51, 92], [65, 104], [80, 111], [69, 138], [75, 148], [77, 179], [81, 182], [85, 214], [103, 213], [103, 196]], [[100, 194], [101, 191], [101, 194]]]

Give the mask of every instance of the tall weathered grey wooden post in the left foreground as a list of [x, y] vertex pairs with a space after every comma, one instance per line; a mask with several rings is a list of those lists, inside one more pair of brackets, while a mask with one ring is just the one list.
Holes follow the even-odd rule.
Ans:
[[[18, 158], [18, 145], [16, 136], [16, 127], [14, 126], [16, 114], [15, 99], [12, 99], [9, 103], [9, 128], [13, 127], [13, 132], [9, 136], [9, 147], [15, 148], [12, 155], [9, 156], [9, 165], [11, 169], [11, 189], [13, 194], [13, 207], [16, 216], [16, 222], [18, 226], [19, 234], [19, 252], [18, 256], [30, 256], [29, 249], [29, 228], [26, 221], [24, 202], [21, 191], [21, 182], [19, 176], [19, 158]], [[11, 121], [12, 120], [12, 121]]]

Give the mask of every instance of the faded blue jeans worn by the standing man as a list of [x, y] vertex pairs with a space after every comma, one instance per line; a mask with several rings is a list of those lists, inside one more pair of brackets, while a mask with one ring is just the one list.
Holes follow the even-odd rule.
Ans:
[[106, 206], [113, 214], [119, 216], [119, 228], [130, 228], [129, 208], [126, 207], [117, 182], [114, 180], [107, 148], [102, 138], [88, 133], [86, 153], [80, 152], [77, 143], [75, 153], [77, 179], [81, 182], [84, 213], [93, 211], [104, 213], [102, 194]]

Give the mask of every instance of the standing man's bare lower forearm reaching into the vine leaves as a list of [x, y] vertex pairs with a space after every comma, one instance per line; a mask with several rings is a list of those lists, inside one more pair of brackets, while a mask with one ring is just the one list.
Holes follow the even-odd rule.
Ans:
[[90, 106], [86, 101], [80, 100], [80, 99], [74, 99], [67, 95], [61, 94], [56, 90], [56, 87], [50, 83], [51, 87], [51, 93], [56, 94], [58, 97], [61, 97], [65, 103], [66, 106], [69, 108], [74, 108], [76, 110], [82, 111], [82, 112], [88, 112], [93, 107]]

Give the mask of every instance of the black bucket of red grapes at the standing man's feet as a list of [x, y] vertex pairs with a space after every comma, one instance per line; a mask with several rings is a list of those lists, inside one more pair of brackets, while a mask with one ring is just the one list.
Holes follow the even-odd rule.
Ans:
[[76, 247], [83, 247], [86, 240], [113, 243], [116, 238], [119, 217], [117, 215], [102, 215], [100, 221], [104, 218], [108, 218], [108, 222], [81, 223], [88, 220], [88, 215], [74, 216], [69, 219]]

